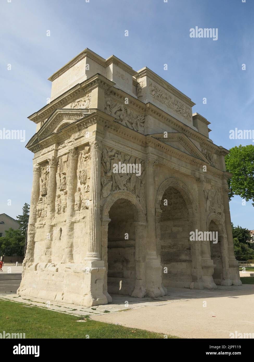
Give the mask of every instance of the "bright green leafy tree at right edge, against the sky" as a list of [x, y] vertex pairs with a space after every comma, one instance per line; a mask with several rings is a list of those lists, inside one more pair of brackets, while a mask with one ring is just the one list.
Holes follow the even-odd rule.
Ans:
[[254, 145], [230, 148], [225, 157], [226, 170], [232, 173], [229, 178], [229, 201], [235, 195], [246, 201], [252, 200], [254, 206]]

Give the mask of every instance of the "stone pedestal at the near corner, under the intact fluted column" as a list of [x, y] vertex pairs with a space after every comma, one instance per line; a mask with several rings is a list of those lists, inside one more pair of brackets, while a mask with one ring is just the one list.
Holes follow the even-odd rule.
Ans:
[[[103, 280], [106, 268], [102, 260], [86, 260], [84, 285], [84, 304], [88, 307], [108, 304], [108, 299], [103, 294]], [[112, 299], [111, 299], [112, 300]]]

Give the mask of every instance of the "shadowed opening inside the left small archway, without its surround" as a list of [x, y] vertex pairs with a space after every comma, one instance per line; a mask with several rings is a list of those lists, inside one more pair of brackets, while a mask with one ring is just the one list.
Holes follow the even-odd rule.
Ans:
[[136, 283], [134, 209], [130, 201], [118, 199], [109, 210], [108, 292], [132, 295]]

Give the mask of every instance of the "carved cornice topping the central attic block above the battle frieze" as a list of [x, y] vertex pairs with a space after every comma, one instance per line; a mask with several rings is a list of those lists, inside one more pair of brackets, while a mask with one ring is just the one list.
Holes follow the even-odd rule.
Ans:
[[184, 93], [180, 92], [180, 90], [176, 89], [172, 84], [168, 83], [165, 79], [161, 78], [158, 74], [154, 73], [147, 67], [144, 67], [141, 70], [139, 70], [134, 76], [137, 79], [147, 76], [151, 80], [158, 83], [165, 90], [167, 90], [167, 92], [174, 94], [174, 96], [184, 101], [190, 107], [195, 106], [195, 103], [192, 102], [191, 98], [187, 97]]

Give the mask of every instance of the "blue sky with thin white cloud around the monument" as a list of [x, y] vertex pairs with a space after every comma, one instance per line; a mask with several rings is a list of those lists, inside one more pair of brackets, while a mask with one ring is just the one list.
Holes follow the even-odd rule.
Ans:
[[[0, 129], [26, 132], [25, 142], [0, 140], [0, 213], [16, 218], [30, 203], [33, 154], [25, 144], [36, 125], [27, 117], [50, 97], [47, 78], [86, 47], [134, 70], [147, 66], [181, 90], [196, 103], [193, 113], [211, 122], [218, 146], [252, 143], [230, 140], [229, 130], [254, 129], [253, 0], [2, 0], [0, 7]], [[218, 40], [190, 38], [195, 26], [218, 28]], [[254, 228], [251, 201], [242, 206], [234, 197], [230, 210], [234, 224]]]

